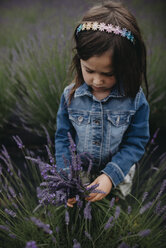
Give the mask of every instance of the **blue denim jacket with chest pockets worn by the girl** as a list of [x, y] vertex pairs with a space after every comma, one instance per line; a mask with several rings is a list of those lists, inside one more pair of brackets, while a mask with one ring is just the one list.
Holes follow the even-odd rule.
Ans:
[[129, 98], [115, 85], [109, 96], [98, 100], [84, 83], [68, 104], [72, 87], [64, 89], [57, 113], [57, 166], [64, 168], [64, 157], [70, 161], [70, 132], [77, 152], [90, 154], [93, 171], [108, 175], [116, 187], [141, 159], [149, 140], [149, 105], [142, 88]]

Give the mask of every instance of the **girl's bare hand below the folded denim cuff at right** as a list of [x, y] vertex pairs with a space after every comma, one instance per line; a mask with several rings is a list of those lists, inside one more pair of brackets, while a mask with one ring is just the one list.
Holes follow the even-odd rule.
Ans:
[[112, 189], [112, 181], [111, 179], [106, 175], [102, 174], [98, 176], [88, 187], [91, 187], [95, 184], [99, 184], [99, 186], [96, 188], [98, 190], [101, 190], [105, 193], [91, 193], [86, 200], [90, 202], [95, 202], [103, 199], [106, 195], [108, 195]]

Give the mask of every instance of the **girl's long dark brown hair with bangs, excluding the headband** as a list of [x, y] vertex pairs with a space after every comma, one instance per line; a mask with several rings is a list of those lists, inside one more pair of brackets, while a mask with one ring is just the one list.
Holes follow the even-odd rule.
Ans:
[[[130, 30], [135, 42], [126, 37], [99, 30], [74, 32], [75, 55], [72, 61], [72, 71], [76, 71], [75, 84], [69, 96], [69, 103], [75, 90], [84, 83], [80, 59], [88, 60], [93, 56], [100, 56], [107, 50], [112, 50], [114, 75], [120, 92], [120, 83], [128, 97], [135, 97], [144, 80], [148, 95], [146, 77], [146, 48], [135, 17], [121, 4], [109, 1], [92, 7], [82, 18], [80, 23], [98, 22], [119, 26]], [[120, 92], [121, 93], [121, 92]]]

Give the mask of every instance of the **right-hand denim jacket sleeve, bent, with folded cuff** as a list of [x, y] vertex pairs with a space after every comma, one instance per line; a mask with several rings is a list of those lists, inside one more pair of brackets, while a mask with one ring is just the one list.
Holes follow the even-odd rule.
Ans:
[[102, 170], [110, 177], [115, 187], [123, 182], [132, 165], [141, 159], [150, 137], [149, 105], [143, 92], [141, 95], [135, 115], [123, 136], [118, 152]]

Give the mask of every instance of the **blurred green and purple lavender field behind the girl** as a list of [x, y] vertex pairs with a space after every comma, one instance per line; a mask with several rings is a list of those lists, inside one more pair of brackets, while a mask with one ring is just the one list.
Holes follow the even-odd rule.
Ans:
[[[45, 144], [47, 132], [54, 143], [60, 95], [72, 80], [73, 28], [97, 2], [0, 1], [0, 145], [14, 156], [13, 135], [34, 150]], [[146, 43], [150, 132], [158, 131], [160, 154], [166, 138], [166, 1], [121, 2], [135, 15]]]

